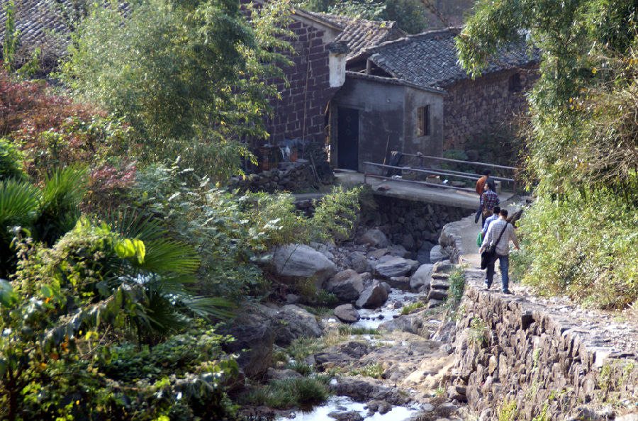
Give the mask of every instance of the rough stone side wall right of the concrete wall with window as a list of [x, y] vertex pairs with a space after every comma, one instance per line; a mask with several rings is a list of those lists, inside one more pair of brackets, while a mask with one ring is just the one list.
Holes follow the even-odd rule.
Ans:
[[[520, 74], [520, 90], [510, 91], [510, 77]], [[522, 69], [463, 80], [447, 88], [443, 101], [444, 150], [464, 149], [464, 142], [525, 110], [524, 93], [535, 72]]]

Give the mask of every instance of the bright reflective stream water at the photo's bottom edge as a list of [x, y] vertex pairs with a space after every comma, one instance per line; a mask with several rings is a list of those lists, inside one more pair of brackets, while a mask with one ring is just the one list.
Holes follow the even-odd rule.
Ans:
[[417, 414], [419, 410], [418, 405], [411, 406], [396, 406], [392, 410], [381, 414], [375, 412], [374, 415], [369, 415], [367, 409], [365, 409], [364, 403], [354, 402], [354, 400], [347, 398], [346, 396], [332, 396], [328, 398], [328, 401], [324, 405], [313, 408], [310, 412], [296, 411], [293, 412], [291, 417], [277, 418], [277, 421], [327, 421], [334, 420], [328, 417], [330, 412], [349, 412], [357, 411], [366, 421], [405, 421]]

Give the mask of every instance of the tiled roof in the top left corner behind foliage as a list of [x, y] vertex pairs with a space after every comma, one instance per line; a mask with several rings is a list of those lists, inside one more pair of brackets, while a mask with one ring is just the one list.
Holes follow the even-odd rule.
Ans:
[[[18, 60], [31, 57], [40, 47], [43, 57], [61, 57], [67, 50], [67, 26], [60, 9], [52, 0], [16, 1], [16, 29], [20, 31]], [[5, 7], [9, 0], [0, 0], [0, 49], [4, 45], [6, 28]]]

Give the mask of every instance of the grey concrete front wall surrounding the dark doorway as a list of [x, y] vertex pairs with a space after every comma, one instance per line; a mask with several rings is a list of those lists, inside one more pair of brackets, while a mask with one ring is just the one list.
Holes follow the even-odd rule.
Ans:
[[[337, 166], [338, 107], [359, 110], [359, 171], [363, 162], [383, 162], [388, 151], [403, 149], [403, 90], [395, 84], [381, 84], [346, 77], [331, 103], [330, 163]], [[389, 155], [389, 153], [388, 153]]]

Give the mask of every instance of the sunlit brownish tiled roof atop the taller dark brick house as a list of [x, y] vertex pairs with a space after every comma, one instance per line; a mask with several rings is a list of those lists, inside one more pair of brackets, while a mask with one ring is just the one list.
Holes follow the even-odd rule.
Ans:
[[349, 52], [346, 60], [358, 57], [366, 48], [405, 37], [405, 32], [398, 27], [396, 22], [367, 21], [362, 18], [337, 16], [329, 13], [307, 13], [342, 28], [342, 32], [337, 35], [335, 43], [340, 41], [347, 43]]

